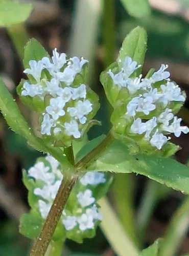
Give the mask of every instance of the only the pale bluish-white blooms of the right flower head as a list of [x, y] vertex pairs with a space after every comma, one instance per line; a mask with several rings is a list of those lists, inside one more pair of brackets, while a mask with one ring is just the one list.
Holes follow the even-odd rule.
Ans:
[[[185, 94], [178, 85], [170, 81], [170, 73], [165, 71], [168, 65], [162, 64], [150, 78], [141, 78], [141, 75], [132, 78], [133, 72], [138, 68], [136, 61], [126, 57], [119, 73], [113, 74], [111, 70], [107, 73], [120, 90], [126, 88], [129, 92], [130, 101], [125, 116], [133, 118], [130, 132], [144, 134], [144, 139], [160, 150], [170, 139], [164, 134], [174, 133], [179, 137], [181, 132], [185, 134], [189, 132], [187, 126], [180, 126], [182, 119], [174, 116], [171, 108], [172, 102], [184, 102]], [[158, 115], [157, 109], [161, 110]], [[148, 115], [152, 111], [156, 116], [149, 119]]]

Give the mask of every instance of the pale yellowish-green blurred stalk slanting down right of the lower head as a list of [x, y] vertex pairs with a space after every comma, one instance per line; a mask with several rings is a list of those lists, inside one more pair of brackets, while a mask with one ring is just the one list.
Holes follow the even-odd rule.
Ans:
[[101, 228], [117, 256], [138, 255], [137, 248], [123, 229], [107, 199], [104, 197], [98, 203], [104, 216]]

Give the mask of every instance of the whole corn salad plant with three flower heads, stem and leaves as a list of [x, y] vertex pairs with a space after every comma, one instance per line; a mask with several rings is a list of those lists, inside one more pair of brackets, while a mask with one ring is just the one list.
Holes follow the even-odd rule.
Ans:
[[[86, 82], [88, 60], [56, 48], [50, 57], [39, 42], [29, 40], [23, 58], [28, 78], [21, 80], [17, 93], [37, 113], [38, 133], [0, 80], [0, 109], [7, 123], [47, 154], [23, 170], [31, 210], [21, 217], [20, 232], [35, 239], [31, 256], [44, 255], [49, 246], [61, 255], [66, 238], [81, 243], [95, 236], [106, 219], [98, 200], [111, 185], [110, 173], [145, 175], [189, 194], [189, 169], [171, 158], [180, 148], [170, 142], [170, 134], [189, 132], [176, 116], [186, 95], [164, 63], [141, 75], [146, 49], [146, 31], [137, 27], [125, 38], [117, 60], [102, 72], [100, 81], [113, 108], [112, 128], [90, 141], [87, 131], [101, 122], [93, 119], [100, 103]], [[138, 255], [160, 255], [161, 244], [157, 240]]]

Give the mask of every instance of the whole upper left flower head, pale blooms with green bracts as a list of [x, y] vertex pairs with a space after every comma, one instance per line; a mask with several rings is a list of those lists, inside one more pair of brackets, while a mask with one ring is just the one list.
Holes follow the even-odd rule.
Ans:
[[29, 81], [22, 81], [18, 91], [21, 99], [40, 113], [41, 135], [67, 145], [82, 137], [99, 108], [98, 96], [84, 83], [87, 62], [78, 57], [66, 59], [56, 48], [52, 59], [29, 61], [30, 68], [24, 71]]

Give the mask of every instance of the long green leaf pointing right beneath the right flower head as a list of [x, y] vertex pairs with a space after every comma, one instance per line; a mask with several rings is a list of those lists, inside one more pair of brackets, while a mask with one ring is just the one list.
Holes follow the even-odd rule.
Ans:
[[189, 168], [171, 158], [156, 155], [129, 155], [128, 148], [115, 140], [90, 169], [114, 173], [145, 175], [175, 190], [189, 194]]

